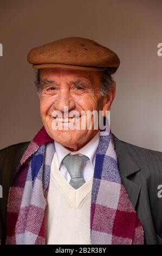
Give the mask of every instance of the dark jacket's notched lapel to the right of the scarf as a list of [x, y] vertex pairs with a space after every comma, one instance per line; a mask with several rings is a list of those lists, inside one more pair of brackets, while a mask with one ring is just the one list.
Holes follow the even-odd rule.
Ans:
[[141, 187], [138, 184], [135, 184], [131, 180], [131, 177], [140, 171], [140, 167], [133, 159], [133, 155], [128, 148], [129, 144], [120, 141], [120, 139], [118, 139], [115, 135], [113, 135], [113, 139], [121, 180], [135, 208], [138, 202]]

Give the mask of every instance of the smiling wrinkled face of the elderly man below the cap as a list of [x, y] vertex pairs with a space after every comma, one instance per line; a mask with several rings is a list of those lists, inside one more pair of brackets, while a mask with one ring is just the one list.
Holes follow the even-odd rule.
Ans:
[[[93, 129], [94, 115], [83, 116], [82, 113], [86, 113], [83, 111], [99, 113], [101, 110], [108, 110], [106, 108], [111, 106], [114, 94], [110, 97], [101, 96], [100, 76], [94, 71], [42, 69], [40, 81], [40, 113], [48, 135], [72, 151], [82, 148], [99, 131], [99, 127], [97, 130]], [[68, 109], [67, 113], [64, 112], [65, 109]], [[53, 117], [54, 112], [62, 114], [62, 119], [58, 119], [61, 115]], [[71, 119], [64, 119], [67, 115]], [[81, 122], [86, 123], [84, 129]], [[89, 122], [91, 129], [88, 129]], [[54, 129], [54, 125], [61, 125], [62, 129]], [[72, 125], [80, 129], [70, 129]]]

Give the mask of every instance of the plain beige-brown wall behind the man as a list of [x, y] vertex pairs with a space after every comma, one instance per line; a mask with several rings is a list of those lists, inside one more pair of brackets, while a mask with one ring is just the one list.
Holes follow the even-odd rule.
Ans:
[[30, 48], [82, 36], [121, 59], [114, 75], [114, 135], [162, 151], [161, 13], [161, 0], [0, 0], [0, 148], [31, 140], [42, 126]]

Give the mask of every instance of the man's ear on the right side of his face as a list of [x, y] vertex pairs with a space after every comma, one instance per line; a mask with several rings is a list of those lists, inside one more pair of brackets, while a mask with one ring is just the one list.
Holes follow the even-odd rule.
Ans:
[[112, 88], [109, 89], [107, 95], [103, 99], [103, 117], [106, 117], [106, 111], [111, 109], [112, 102], [115, 97], [116, 92], [116, 83], [113, 81]]

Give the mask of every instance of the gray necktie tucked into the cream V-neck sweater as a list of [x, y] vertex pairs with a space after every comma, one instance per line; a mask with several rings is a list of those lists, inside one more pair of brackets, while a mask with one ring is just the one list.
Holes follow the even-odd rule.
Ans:
[[69, 184], [74, 187], [76, 190], [77, 188], [81, 187], [85, 184], [85, 179], [83, 178], [82, 167], [85, 161], [88, 161], [89, 158], [85, 155], [67, 155], [62, 160], [64, 166], [67, 168], [70, 176]]

